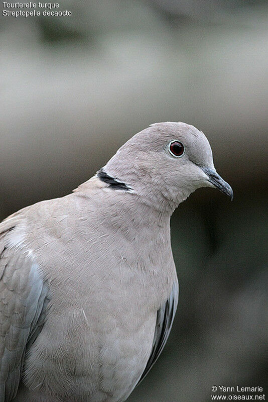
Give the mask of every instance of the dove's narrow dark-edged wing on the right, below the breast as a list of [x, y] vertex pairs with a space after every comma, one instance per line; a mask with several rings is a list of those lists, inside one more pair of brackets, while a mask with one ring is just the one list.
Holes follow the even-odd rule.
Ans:
[[149, 357], [148, 363], [145, 367], [145, 370], [138, 384], [144, 379], [147, 373], [151, 370], [151, 368], [159, 358], [167, 342], [178, 305], [178, 296], [179, 296], [178, 282], [174, 282], [172, 292], [169, 298], [166, 300], [165, 303], [161, 305], [160, 309], [157, 312], [156, 329], [155, 329], [151, 355]]

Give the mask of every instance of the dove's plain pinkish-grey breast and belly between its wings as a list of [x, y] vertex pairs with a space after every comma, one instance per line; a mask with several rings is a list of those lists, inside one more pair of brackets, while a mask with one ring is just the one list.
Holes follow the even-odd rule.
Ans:
[[46, 205], [50, 219], [39, 214], [21, 245], [32, 250], [49, 289], [23, 383], [32, 402], [123, 401], [145, 370], [157, 312], [176, 281], [166, 233], [148, 228], [141, 237], [136, 227], [116, 241], [108, 223], [89, 226], [79, 208], [59, 214]]

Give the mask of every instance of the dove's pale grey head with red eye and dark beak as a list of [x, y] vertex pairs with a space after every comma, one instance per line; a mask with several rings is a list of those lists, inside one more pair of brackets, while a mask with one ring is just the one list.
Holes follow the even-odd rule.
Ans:
[[206, 136], [181, 122], [156, 123], [136, 134], [98, 175], [103, 181], [106, 175], [107, 183], [109, 176], [115, 181], [112, 188], [138, 194], [156, 208], [174, 209], [200, 187], [218, 188], [233, 198], [232, 188], [215, 170]]

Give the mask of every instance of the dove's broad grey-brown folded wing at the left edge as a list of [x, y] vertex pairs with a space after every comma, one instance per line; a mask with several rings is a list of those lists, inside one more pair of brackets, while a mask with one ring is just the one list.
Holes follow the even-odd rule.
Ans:
[[47, 289], [38, 265], [0, 243], [0, 402], [16, 395], [28, 342], [38, 335]]

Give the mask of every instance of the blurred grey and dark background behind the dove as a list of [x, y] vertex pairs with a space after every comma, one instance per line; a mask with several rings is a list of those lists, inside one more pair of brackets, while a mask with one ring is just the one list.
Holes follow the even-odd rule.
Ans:
[[59, 4], [72, 16], [1, 10], [0, 217], [71, 192], [151, 123], [193, 124], [234, 201], [205, 188], [174, 213], [178, 312], [128, 400], [208, 402], [212, 385], [265, 388], [268, 2]]

